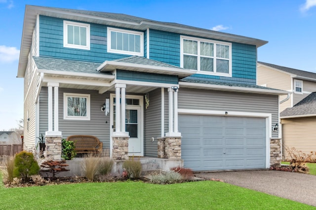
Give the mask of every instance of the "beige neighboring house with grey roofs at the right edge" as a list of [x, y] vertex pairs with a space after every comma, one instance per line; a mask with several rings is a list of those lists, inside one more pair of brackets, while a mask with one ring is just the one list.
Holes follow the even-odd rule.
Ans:
[[316, 158], [316, 73], [258, 62], [257, 79], [289, 92], [279, 105], [283, 159], [291, 159], [286, 148], [292, 147]]

